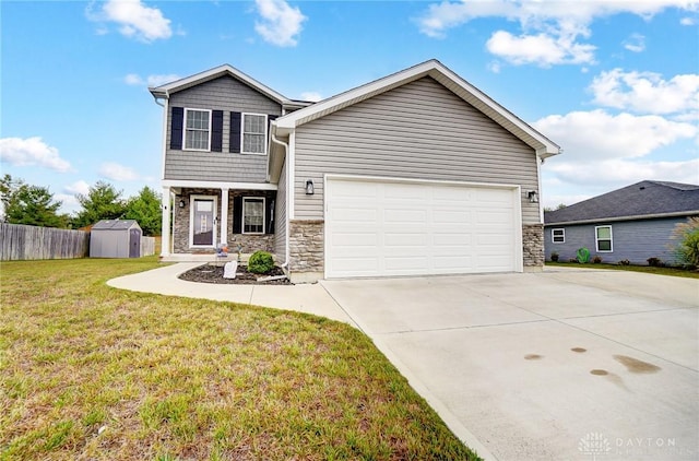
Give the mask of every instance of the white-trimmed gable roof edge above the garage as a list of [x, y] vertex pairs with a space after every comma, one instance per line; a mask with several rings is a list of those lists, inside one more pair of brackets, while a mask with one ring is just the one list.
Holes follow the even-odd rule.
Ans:
[[558, 144], [536, 131], [514, 114], [500, 106], [481, 90], [457, 75], [436, 59], [425, 61], [412, 68], [384, 76], [336, 96], [323, 99], [275, 120], [273, 126], [277, 135], [286, 135], [296, 127], [324, 117], [345, 107], [366, 101], [395, 87], [431, 76], [466, 103], [481, 110], [522, 142], [534, 149], [542, 158], [561, 153]]

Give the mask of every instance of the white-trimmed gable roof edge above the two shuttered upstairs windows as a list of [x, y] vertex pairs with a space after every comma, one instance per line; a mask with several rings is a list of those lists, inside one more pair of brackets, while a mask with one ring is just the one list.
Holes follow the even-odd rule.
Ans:
[[196, 73], [193, 75], [187, 76], [185, 79], [180, 79], [180, 80], [176, 80], [176, 81], [170, 82], [170, 83], [166, 83], [166, 84], [161, 85], [161, 86], [151, 86], [151, 87], [149, 87], [149, 91], [156, 98], [167, 98], [173, 93], [177, 93], [177, 92], [180, 92], [182, 90], [190, 88], [192, 86], [199, 85], [199, 84], [204, 83], [204, 82], [209, 82], [209, 81], [214, 80], [214, 79], [218, 79], [221, 76], [232, 76], [232, 78], [245, 83], [246, 85], [252, 87], [253, 90], [258, 91], [259, 93], [262, 93], [263, 95], [265, 95], [270, 99], [273, 99], [276, 103], [279, 103], [281, 105], [284, 105], [284, 106], [287, 106], [287, 107], [298, 108], [298, 107], [306, 107], [309, 104], [311, 104], [311, 103], [305, 102], [305, 101], [289, 99], [288, 97], [284, 96], [283, 94], [277, 93], [274, 90], [270, 88], [269, 86], [258, 82], [253, 78], [240, 72], [238, 69], [234, 68], [230, 64], [222, 64], [222, 66], [215, 67], [213, 69], [209, 69], [206, 71], [199, 72], [199, 73]]

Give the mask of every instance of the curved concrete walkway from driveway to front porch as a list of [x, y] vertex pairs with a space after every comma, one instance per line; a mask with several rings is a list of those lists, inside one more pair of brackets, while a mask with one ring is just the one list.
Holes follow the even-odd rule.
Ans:
[[356, 327], [354, 321], [320, 284], [303, 285], [215, 285], [187, 282], [177, 276], [201, 262], [180, 262], [146, 272], [112, 279], [107, 285], [132, 292], [182, 296], [268, 306], [328, 317]]

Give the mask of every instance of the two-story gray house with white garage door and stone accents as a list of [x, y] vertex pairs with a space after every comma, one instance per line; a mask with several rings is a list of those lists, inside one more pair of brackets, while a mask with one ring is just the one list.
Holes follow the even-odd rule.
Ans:
[[293, 281], [543, 267], [559, 146], [436, 60], [315, 104], [230, 66], [151, 93], [164, 260], [265, 249]]

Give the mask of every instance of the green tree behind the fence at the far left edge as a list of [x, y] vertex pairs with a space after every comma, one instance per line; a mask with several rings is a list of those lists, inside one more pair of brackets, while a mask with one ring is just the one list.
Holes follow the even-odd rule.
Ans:
[[47, 187], [32, 186], [4, 175], [0, 180], [4, 218], [10, 224], [67, 227], [68, 215], [59, 214], [62, 202], [55, 201]]

